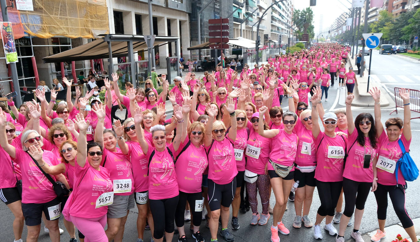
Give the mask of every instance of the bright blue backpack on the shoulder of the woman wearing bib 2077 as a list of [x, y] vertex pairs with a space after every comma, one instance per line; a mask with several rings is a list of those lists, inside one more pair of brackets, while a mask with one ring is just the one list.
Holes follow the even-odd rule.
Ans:
[[402, 144], [401, 139], [398, 140], [399, 147], [402, 151], [401, 158], [396, 162], [395, 167], [395, 177], [396, 183], [398, 184], [398, 168], [401, 169], [402, 176], [404, 180], [412, 182], [417, 179], [419, 175], [419, 169], [417, 169], [416, 164], [411, 158], [409, 151], [405, 151], [404, 145]]

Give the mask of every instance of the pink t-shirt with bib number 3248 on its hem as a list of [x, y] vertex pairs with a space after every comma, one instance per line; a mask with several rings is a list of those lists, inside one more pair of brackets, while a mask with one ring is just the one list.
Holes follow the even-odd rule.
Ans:
[[[117, 151], [103, 150], [101, 166], [105, 167], [110, 173], [111, 180], [131, 180], [131, 191], [126, 193], [115, 193], [118, 195], [131, 195], [134, 193], [134, 178], [131, 171], [131, 162], [121, 152], [120, 148]], [[104, 165], [105, 162], [105, 165]]]

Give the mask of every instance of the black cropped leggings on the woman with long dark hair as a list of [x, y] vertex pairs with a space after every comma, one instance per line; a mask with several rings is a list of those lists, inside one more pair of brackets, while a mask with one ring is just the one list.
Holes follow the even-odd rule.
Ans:
[[344, 215], [351, 217], [354, 212], [354, 206], [357, 209], [365, 209], [367, 195], [369, 195], [372, 182], [356, 182], [343, 177], [343, 192], [346, 206], [344, 207]]

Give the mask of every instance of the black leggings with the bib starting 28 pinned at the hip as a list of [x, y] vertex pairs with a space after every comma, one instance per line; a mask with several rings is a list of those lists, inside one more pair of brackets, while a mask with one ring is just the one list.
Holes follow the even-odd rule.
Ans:
[[[188, 200], [189, 203], [189, 210], [192, 214], [192, 221], [194, 226], [200, 226], [201, 224], [201, 213], [202, 211], [195, 211], [195, 201], [202, 200], [203, 196], [202, 193], [184, 193], [179, 191], [179, 201], [178, 206], [176, 206], [175, 211], [175, 224], [177, 227], [184, 226], [184, 212], [185, 212], [185, 204]], [[202, 207], [201, 207], [202, 209]]]

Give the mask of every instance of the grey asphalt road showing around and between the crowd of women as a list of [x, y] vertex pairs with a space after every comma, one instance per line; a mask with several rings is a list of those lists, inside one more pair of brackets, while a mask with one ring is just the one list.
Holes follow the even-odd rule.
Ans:
[[[368, 57], [368, 56], [365, 56]], [[367, 59], [368, 60], [368, 59]], [[367, 61], [368, 63], [368, 61]], [[419, 70], [420, 64], [409, 62], [407, 60], [403, 60], [394, 55], [379, 55], [378, 52], [373, 52], [373, 64], [372, 64], [371, 74], [374, 75], [373, 78], [377, 78], [376, 81], [381, 81], [385, 84], [386, 87], [392, 89], [396, 85], [403, 85], [403, 87], [410, 87], [410, 88], [420, 88], [420, 78], [419, 78]], [[394, 78], [392, 80], [391, 78]], [[411, 80], [411, 81], [408, 81]], [[324, 108], [326, 111], [333, 111], [339, 108], [344, 107], [344, 99], [345, 99], [345, 90], [340, 89], [337, 90], [336, 86], [331, 86], [328, 91], [328, 101], [323, 101]], [[373, 100], [372, 100], [373, 102]], [[382, 110], [382, 122], [384, 123], [386, 119], [389, 117], [402, 117], [402, 112], [395, 112], [391, 115], [389, 113], [393, 110], [395, 104], [391, 103], [388, 107], [383, 107]], [[372, 108], [353, 108], [353, 115], [354, 117], [361, 113], [361, 112], [372, 112]], [[412, 112], [412, 116], [414, 117], [417, 113]], [[416, 116], [417, 117], [417, 116]], [[411, 150], [415, 151], [417, 147], [420, 147], [420, 120], [414, 119], [411, 121], [412, 127], [412, 142], [411, 142]], [[417, 152], [411, 152], [411, 156], [415, 160], [417, 166], [420, 166], [420, 155]], [[412, 219], [420, 217], [420, 210], [418, 209], [419, 206], [419, 199], [417, 197], [420, 194], [420, 180], [416, 180], [414, 182], [408, 182], [408, 189], [407, 189], [407, 197], [406, 197], [406, 206], [407, 211]], [[275, 199], [274, 195], [271, 196], [270, 204], [274, 206]], [[390, 226], [393, 224], [398, 224], [399, 219], [396, 217], [395, 212], [391, 206], [391, 201], [388, 199], [388, 213], [387, 213], [387, 220], [386, 226]], [[313, 196], [312, 208], [309, 214], [310, 219], [315, 222], [316, 211], [320, 206], [318, 193], [315, 189], [315, 193]], [[282, 235], [280, 234], [280, 239], [282, 242], [296, 242], [296, 241], [317, 241], [313, 238], [313, 228], [305, 228], [302, 226], [300, 229], [295, 229], [292, 227], [292, 222], [294, 220], [295, 211], [294, 211], [294, 203], [288, 202], [288, 210], [283, 216], [283, 223], [286, 225], [287, 228], [290, 229], [289, 235]], [[261, 207], [259, 206], [261, 211]], [[366, 206], [365, 206], [365, 213], [362, 219], [362, 224], [360, 227], [360, 232], [365, 234], [367, 232], [373, 231], [378, 229], [378, 221], [376, 216], [376, 200], [373, 193], [370, 193], [369, 197], [367, 198]], [[235, 241], [243, 241], [243, 242], [251, 242], [251, 241], [270, 241], [270, 222], [272, 219], [269, 220], [269, 223], [265, 226], [259, 225], [250, 225], [249, 221], [251, 219], [251, 212], [246, 214], [239, 213], [239, 224], [240, 228], [233, 232], [235, 235]], [[13, 231], [12, 231], [12, 222], [13, 222], [13, 214], [11, 211], [5, 206], [4, 203], [0, 203], [0, 217], [2, 218], [0, 221], [1, 230], [0, 230], [0, 238], [1, 241], [13, 241]], [[135, 242], [137, 239], [137, 230], [136, 230], [136, 218], [137, 218], [137, 208], [134, 208], [130, 211], [125, 232], [124, 232], [124, 242]], [[325, 221], [324, 223], [325, 224]], [[323, 226], [322, 224], [322, 226]], [[186, 222], [186, 235], [189, 241], [194, 241], [192, 239], [192, 233], [188, 229], [189, 222]], [[338, 229], [338, 224], [335, 225]], [[63, 221], [60, 219], [60, 228], [64, 229]], [[323, 241], [325, 242], [335, 242], [335, 237], [330, 236], [328, 233], [325, 234], [325, 230], [321, 229], [323, 233]], [[209, 229], [205, 227], [205, 221], [202, 221], [202, 226], [200, 231], [205, 235], [205, 240], [207, 242], [210, 241], [210, 232]], [[352, 231], [352, 227], [349, 227], [346, 230], [346, 241], [354, 241], [350, 237], [350, 232]], [[394, 237], [393, 234], [389, 234], [388, 236]], [[146, 231], [144, 233], [144, 241], [150, 241], [150, 231]], [[24, 228], [23, 238], [26, 238], [26, 228]], [[177, 235], [174, 236], [173, 241], [176, 241]], [[61, 235], [61, 241], [69, 241], [69, 236], [67, 232]], [[25, 240], [24, 240], [25, 241]], [[43, 231], [43, 224], [41, 229], [41, 234], [39, 237], [39, 242], [47, 242], [50, 241], [50, 238], [47, 233]], [[224, 241], [221, 237], [219, 237], [219, 241]]]

